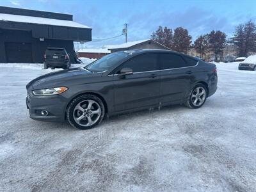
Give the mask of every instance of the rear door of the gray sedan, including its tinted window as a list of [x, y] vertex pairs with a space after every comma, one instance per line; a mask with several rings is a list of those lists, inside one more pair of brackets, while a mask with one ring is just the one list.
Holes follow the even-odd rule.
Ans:
[[190, 89], [193, 71], [182, 56], [175, 53], [161, 53], [160, 102], [179, 102]]

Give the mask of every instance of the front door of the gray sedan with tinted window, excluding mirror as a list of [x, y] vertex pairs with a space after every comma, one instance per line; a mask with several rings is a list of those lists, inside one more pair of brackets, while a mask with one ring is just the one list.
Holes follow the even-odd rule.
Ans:
[[[121, 76], [122, 68], [133, 74]], [[125, 61], [113, 76], [115, 111], [159, 104], [160, 72], [158, 54], [141, 54]]]

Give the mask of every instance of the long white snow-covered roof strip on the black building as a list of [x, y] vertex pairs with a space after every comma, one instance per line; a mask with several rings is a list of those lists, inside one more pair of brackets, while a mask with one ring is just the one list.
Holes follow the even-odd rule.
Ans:
[[66, 26], [71, 28], [88, 28], [88, 26], [84, 26], [83, 24], [79, 24], [78, 22], [74, 22], [72, 20], [60, 20], [60, 19], [49, 19], [44, 17], [33, 17], [33, 16], [24, 16], [24, 15], [12, 15], [0, 13], [0, 21], [12, 21], [12, 22], [26, 22], [32, 24], [44, 24], [51, 26]]

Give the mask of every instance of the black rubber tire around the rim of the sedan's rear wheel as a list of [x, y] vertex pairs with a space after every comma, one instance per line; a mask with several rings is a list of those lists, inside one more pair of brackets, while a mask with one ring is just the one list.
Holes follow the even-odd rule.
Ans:
[[[200, 88], [200, 90], [204, 89], [204, 91], [205, 91], [204, 100], [203, 100], [203, 102], [200, 103], [199, 105], [195, 105], [195, 103], [193, 102], [193, 101], [195, 101], [195, 100], [194, 100], [194, 98], [195, 98], [194, 93], [195, 93], [195, 91], [196, 91], [197, 88]], [[207, 99], [207, 95], [208, 95], [208, 89], [205, 87], [204, 84], [198, 83], [198, 84], [196, 84], [196, 85], [191, 89], [191, 91], [189, 92], [189, 95], [188, 95], [188, 97], [187, 97], [187, 99], [186, 99], [185, 105], [186, 105], [188, 108], [192, 108], [192, 109], [201, 108], [201, 107], [204, 105], [204, 103], [205, 103], [205, 101], [206, 101], [206, 99]], [[203, 97], [201, 96], [200, 99], [202, 99], [202, 98], [203, 98]]]

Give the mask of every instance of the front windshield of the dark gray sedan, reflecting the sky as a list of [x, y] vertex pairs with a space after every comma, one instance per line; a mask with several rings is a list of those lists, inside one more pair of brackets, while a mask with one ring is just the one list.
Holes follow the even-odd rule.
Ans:
[[127, 52], [111, 53], [100, 58], [99, 60], [94, 61], [84, 68], [86, 70], [90, 70], [91, 72], [104, 72], [115, 66], [118, 61], [126, 58], [128, 55], [129, 54]]

